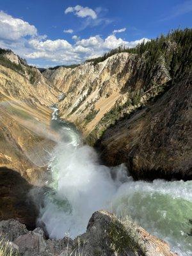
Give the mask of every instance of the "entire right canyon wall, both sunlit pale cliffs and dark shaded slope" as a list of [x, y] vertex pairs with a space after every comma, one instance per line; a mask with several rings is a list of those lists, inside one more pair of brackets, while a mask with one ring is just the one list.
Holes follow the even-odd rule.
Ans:
[[127, 163], [136, 179], [191, 179], [191, 42], [191, 29], [176, 30], [44, 76], [63, 92], [61, 118], [97, 141], [106, 163]]

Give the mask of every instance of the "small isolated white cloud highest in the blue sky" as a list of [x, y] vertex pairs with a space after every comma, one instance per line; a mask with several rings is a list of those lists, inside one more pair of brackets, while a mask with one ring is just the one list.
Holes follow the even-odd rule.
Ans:
[[85, 18], [91, 17], [92, 19], [97, 19], [97, 13], [88, 7], [83, 7], [81, 5], [76, 5], [75, 7], [68, 7], [65, 10], [65, 14], [73, 12], [77, 17]]

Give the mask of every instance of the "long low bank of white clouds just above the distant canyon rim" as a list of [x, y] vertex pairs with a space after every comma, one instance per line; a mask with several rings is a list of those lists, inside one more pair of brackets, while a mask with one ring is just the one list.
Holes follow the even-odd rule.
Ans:
[[[74, 36], [73, 36], [74, 37]], [[47, 60], [51, 63], [69, 65], [72, 63], [81, 63], [90, 58], [96, 58], [116, 47], [124, 45], [126, 47], [135, 47], [137, 44], [147, 41], [147, 38], [141, 38], [133, 42], [127, 42], [122, 38], [116, 38], [115, 35], [109, 35], [102, 38], [99, 35], [89, 38], [79, 39], [75, 36], [75, 44], [69, 44], [66, 40], [39, 40], [37, 38], [29, 40], [32, 52], [25, 55], [28, 59]]]

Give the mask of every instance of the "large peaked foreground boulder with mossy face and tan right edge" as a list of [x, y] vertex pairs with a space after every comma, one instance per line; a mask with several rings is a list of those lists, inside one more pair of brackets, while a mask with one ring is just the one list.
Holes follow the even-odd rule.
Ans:
[[106, 211], [94, 212], [86, 233], [77, 237], [78, 252], [87, 256], [174, 256], [168, 244], [150, 236], [132, 221], [120, 221]]

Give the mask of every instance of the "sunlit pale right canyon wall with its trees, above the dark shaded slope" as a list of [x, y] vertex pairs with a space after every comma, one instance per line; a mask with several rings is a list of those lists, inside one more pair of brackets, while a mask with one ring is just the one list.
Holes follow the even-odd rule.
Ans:
[[79, 67], [43, 74], [63, 92], [61, 118], [74, 122], [93, 145], [109, 125], [189, 73], [191, 42], [191, 29], [177, 29], [133, 49], [120, 47]]

